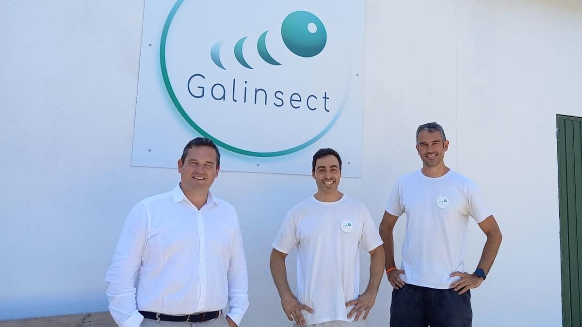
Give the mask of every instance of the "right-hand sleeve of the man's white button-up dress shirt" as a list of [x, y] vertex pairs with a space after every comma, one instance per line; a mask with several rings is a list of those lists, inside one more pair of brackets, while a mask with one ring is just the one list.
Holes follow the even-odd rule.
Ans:
[[249, 308], [249, 273], [247, 272], [247, 261], [244, 256], [239, 218], [237, 218], [236, 213], [235, 233], [226, 278], [228, 279], [228, 317], [239, 326], [244, 313]]

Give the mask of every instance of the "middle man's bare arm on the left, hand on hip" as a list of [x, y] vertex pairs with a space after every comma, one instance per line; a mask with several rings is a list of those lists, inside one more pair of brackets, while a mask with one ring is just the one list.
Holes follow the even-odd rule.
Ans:
[[273, 249], [271, 251], [271, 275], [273, 276], [273, 281], [279, 292], [279, 297], [281, 297], [281, 306], [283, 311], [287, 315], [289, 321], [295, 321], [297, 326], [305, 326], [305, 319], [301, 310], [306, 310], [313, 313], [313, 309], [307, 305], [299, 303], [297, 298], [291, 292], [289, 288], [289, 283], [287, 281], [287, 268], [285, 266], [286, 253], [282, 253]]

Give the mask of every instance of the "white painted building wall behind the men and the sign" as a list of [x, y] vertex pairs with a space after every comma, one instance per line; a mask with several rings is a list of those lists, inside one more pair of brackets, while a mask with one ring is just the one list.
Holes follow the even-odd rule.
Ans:
[[[140, 0], [0, 2], [0, 319], [107, 310], [125, 215], [178, 181], [174, 169], [129, 165], [142, 14]], [[504, 236], [473, 292], [474, 326], [559, 326], [555, 115], [582, 116], [582, 3], [368, 0], [366, 28], [363, 175], [342, 190], [379, 223], [396, 178], [420, 167], [416, 126], [441, 122], [446, 162], [480, 183]], [[314, 188], [308, 176], [216, 180], [243, 228], [243, 327], [286, 326], [270, 244]], [[483, 242], [471, 223], [468, 270]], [[384, 325], [389, 307], [384, 280], [370, 325]]]

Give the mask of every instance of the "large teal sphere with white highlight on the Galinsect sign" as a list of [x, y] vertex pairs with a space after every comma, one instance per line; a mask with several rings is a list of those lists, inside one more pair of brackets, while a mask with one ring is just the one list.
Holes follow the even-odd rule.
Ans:
[[287, 48], [301, 57], [319, 54], [327, 42], [327, 32], [321, 20], [313, 13], [292, 12], [281, 24], [281, 37]]

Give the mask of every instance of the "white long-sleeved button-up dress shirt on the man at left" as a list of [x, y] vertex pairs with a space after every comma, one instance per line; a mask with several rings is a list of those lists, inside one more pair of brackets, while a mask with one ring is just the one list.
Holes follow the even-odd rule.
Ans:
[[249, 307], [249, 278], [235, 209], [208, 193], [198, 211], [180, 185], [133, 207], [119, 237], [108, 283], [120, 327], [151, 311], [184, 315], [222, 310], [237, 325]]

